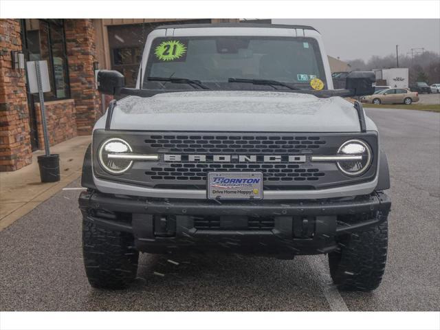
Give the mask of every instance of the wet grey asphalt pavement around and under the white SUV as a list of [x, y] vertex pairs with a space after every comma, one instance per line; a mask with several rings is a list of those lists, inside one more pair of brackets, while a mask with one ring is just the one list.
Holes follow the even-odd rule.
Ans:
[[382, 134], [393, 186], [388, 263], [375, 292], [337, 292], [325, 256], [281, 261], [224, 254], [142, 254], [130, 289], [91, 289], [81, 259], [79, 190], [62, 190], [0, 232], [0, 309], [438, 310], [440, 115], [367, 113]]

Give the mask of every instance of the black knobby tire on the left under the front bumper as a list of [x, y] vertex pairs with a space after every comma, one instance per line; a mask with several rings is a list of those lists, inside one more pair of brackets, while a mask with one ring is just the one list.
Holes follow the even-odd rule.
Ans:
[[136, 277], [139, 252], [133, 236], [100, 228], [83, 219], [83, 258], [92, 287], [124, 289]]

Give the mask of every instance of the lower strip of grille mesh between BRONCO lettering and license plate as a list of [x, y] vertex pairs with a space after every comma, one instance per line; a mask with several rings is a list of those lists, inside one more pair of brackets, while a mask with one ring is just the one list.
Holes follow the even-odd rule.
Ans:
[[325, 175], [318, 168], [300, 168], [298, 164], [195, 164], [170, 163], [145, 172], [152, 180], [206, 180], [208, 172], [262, 172], [264, 181], [317, 181]]

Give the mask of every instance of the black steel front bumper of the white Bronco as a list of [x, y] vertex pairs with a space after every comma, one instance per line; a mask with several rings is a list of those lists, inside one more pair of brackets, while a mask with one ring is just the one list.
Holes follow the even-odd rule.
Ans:
[[132, 233], [142, 252], [212, 248], [291, 256], [331, 252], [336, 249], [336, 236], [381, 223], [391, 208], [383, 192], [353, 199], [220, 203], [87, 191], [81, 193], [79, 203], [84, 219]]

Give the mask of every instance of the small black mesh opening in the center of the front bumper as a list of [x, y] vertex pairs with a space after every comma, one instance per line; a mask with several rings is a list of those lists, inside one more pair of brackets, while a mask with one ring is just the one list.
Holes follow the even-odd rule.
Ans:
[[[274, 218], [270, 217], [248, 217], [248, 225], [240, 230], [272, 230], [274, 228]], [[194, 228], [199, 230], [228, 230], [222, 228], [220, 217], [195, 217]], [[234, 228], [237, 229], [237, 228]]]

